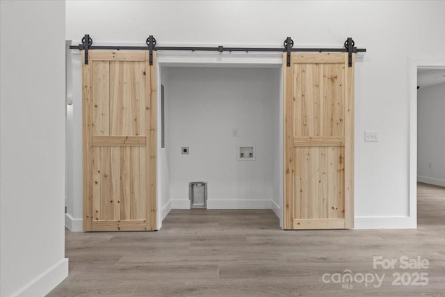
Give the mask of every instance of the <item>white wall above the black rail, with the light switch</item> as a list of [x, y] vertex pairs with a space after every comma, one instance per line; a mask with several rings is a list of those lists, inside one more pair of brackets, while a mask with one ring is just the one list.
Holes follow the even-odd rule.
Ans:
[[[290, 35], [305, 47], [352, 36], [368, 50], [355, 77], [355, 226], [410, 227], [408, 58], [445, 57], [444, 1], [111, 1], [103, 10], [68, 1], [67, 39], [276, 47]], [[364, 143], [365, 130], [379, 142]]]

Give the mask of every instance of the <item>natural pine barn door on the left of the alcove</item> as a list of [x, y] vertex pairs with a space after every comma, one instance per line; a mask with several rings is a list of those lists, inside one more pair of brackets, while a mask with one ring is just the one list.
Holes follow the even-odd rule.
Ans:
[[[83, 64], [83, 230], [156, 229], [156, 53]], [[84, 58], [82, 59], [84, 61]]]

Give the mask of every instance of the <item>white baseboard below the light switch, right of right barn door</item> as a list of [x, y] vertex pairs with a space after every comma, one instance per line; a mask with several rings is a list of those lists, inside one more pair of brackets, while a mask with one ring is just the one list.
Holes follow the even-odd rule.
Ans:
[[[411, 229], [409, 216], [355, 217], [354, 229]], [[414, 227], [415, 228], [415, 227]]]

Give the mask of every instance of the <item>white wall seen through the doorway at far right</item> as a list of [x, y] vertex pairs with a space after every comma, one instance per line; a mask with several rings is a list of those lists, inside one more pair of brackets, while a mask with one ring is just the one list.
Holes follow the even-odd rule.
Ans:
[[417, 180], [445, 186], [445, 83], [417, 92]]

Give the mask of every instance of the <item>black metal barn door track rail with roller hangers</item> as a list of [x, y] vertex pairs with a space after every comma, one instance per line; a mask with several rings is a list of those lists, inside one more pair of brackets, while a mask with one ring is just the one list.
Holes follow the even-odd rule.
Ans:
[[291, 66], [291, 52], [292, 51], [306, 51], [306, 52], [337, 52], [337, 53], [348, 53], [348, 65], [353, 66], [353, 53], [365, 52], [366, 49], [357, 49], [355, 47], [355, 42], [353, 38], [348, 37], [344, 43], [344, 47], [337, 49], [326, 49], [326, 48], [293, 48], [293, 40], [288, 37], [284, 40], [284, 47], [223, 47], [220, 45], [218, 47], [156, 47], [156, 39], [153, 35], [149, 35], [145, 41], [147, 47], [131, 47], [131, 46], [113, 46], [113, 45], [92, 45], [92, 38], [90, 35], [86, 34], [82, 38], [82, 43], [80, 45], [70, 45], [70, 49], [79, 49], [85, 51], [85, 64], [88, 64], [88, 50], [90, 49], [114, 49], [119, 51], [120, 49], [142, 49], [149, 51], [149, 65], [153, 65], [153, 51], [281, 51], [286, 53], [286, 65]]

